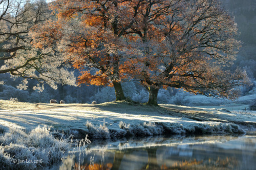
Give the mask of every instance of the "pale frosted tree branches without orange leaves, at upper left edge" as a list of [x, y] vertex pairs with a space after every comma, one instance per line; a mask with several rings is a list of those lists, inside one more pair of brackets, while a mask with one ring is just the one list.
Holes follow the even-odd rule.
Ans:
[[[0, 1], [0, 73], [37, 79], [56, 87], [55, 82], [74, 84], [72, 73], [64, 69], [62, 57], [52, 49], [38, 50], [31, 45], [29, 30], [50, 17], [51, 11], [45, 1]], [[24, 86], [23, 86], [24, 85]]]

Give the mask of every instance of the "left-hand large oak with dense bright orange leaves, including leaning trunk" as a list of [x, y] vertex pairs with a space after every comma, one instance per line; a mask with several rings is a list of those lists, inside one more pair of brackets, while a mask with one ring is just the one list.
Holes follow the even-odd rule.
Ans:
[[78, 77], [79, 84], [114, 86], [116, 100], [123, 100], [121, 80], [126, 75], [120, 66], [131, 51], [123, 34], [135, 23], [142, 3], [57, 0], [52, 6], [57, 19], [35, 29], [35, 46], [53, 47], [65, 54], [74, 68], [86, 69]]

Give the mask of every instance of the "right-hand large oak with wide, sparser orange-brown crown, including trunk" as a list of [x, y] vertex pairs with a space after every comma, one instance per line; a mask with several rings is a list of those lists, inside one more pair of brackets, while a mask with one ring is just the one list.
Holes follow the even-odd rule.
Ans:
[[139, 57], [125, 62], [127, 73], [150, 93], [157, 105], [160, 88], [182, 88], [211, 97], [238, 97], [248, 83], [241, 69], [225, 70], [236, 59], [237, 25], [218, 0], [145, 1], [140, 19], [127, 30]]

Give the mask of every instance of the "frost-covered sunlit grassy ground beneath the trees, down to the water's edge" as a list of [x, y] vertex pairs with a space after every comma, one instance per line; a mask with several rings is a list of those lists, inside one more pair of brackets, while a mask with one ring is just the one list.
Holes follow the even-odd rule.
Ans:
[[[193, 101], [198, 103], [198, 107], [172, 104], [149, 107], [125, 101], [92, 105], [0, 100], [0, 129], [14, 127], [31, 130], [38, 125], [48, 125], [53, 126], [52, 131], [57, 131], [56, 134], [63, 132], [77, 138], [89, 134], [89, 139], [186, 133], [255, 133], [256, 112], [242, 110], [248, 108], [249, 101], [254, 98], [255, 88], [237, 101], [218, 100], [218, 105], [217, 99], [194, 96]], [[210, 107], [209, 103], [214, 106]]]

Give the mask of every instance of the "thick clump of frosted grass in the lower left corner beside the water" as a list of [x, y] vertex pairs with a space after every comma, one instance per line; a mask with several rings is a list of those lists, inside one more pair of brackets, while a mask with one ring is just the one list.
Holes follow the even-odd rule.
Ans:
[[35, 169], [50, 166], [68, 151], [68, 139], [56, 139], [47, 126], [26, 132], [10, 129], [0, 136], [0, 167]]

